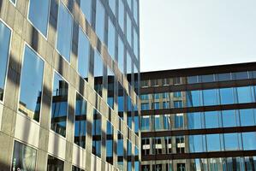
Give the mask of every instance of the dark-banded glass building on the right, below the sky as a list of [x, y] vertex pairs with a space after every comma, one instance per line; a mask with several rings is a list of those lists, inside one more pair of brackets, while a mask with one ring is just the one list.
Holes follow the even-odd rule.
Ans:
[[256, 170], [256, 63], [141, 73], [141, 170]]

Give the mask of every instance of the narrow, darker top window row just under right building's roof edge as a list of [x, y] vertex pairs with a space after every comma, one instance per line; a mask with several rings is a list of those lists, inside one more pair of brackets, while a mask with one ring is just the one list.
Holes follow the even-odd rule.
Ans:
[[209, 83], [217, 81], [229, 81], [229, 80], [247, 80], [255, 79], [256, 71], [244, 71], [234, 73], [223, 73], [223, 74], [207, 74], [207, 75], [196, 75], [188, 77], [176, 77], [166, 78], [158, 80], [141, 80], [142, 87], [151, 86], [166, 86], [166, 85], [181, 85], [181, 84], [195, 84], [195, 83]]

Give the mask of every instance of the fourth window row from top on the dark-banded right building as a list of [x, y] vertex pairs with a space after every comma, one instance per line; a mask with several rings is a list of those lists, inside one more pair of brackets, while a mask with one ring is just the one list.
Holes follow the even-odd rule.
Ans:
[[[172, 139], [175, 139], [175, 141], [172, 142]], [[256, 150], [255, 140], [255, 132], [142, 138], [141, 153], [142, 155], [158, 155], [228, 150]]]

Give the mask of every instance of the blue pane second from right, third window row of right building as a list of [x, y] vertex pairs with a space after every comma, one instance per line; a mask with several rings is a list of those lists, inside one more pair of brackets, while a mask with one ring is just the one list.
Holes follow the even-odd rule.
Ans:
[[223, 127], [236, 127], [235, 110], [223, 110]]

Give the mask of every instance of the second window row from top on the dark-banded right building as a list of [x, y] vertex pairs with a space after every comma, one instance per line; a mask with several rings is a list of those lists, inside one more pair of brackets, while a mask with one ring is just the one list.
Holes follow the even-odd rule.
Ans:
[[[141, 95], [141, 99], [148, 99], [148, 101], [156, 101], [160, 98], [164, 100], [163, 103], [142, 102], [141, 109], [169, 109], [256, 102], [256, 86], [169, 92], [163, 93], [162, 96], [158, 94]], [[171, 103], [173, 104], [170, 106]]]

